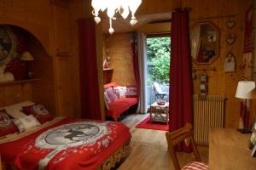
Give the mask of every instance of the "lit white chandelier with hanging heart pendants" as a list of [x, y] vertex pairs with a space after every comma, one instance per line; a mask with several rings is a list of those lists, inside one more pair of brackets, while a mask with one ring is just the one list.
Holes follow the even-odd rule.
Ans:
[[119, 12], [121, 16], [126, 19], [131, 11], [131, 26], [136, 25], [137, 20], [135, 18], [135, 13], [137, 8], [142, 3], [142, 0], [91, 0], [91, 6], [93, 8], [92, 14], [95, 16], [94, 20], [96, 24], [101, 22], [99, 17], [100, 10], [104, 12], [107, 9], [107, 14], [109, 18], [109, 33], [113, 34], [114, 30], [112, 27], [112, 20], [116, 20], [114, 14]]

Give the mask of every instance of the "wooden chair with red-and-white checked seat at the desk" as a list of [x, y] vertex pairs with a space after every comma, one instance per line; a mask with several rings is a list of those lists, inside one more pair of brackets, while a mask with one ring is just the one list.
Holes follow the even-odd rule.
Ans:
[[171, 153], [172, 161], [175, 167], [175, 170], [180, 170], [180, 165], [177, 161], [177, 155], [175, 151], [175, 146], [181, 142], [183, 142], [185, 139], [189, 139], [189, 144], [192, 147], [192, 150], [195, 155], [195, 161], [192, 163], [189, 163], [182, 169], [208, 169], [208, 166], [201, 162], [201, 156], [199, 155], [199, 152], [195, 145], [195, 140], [193, 138], [192, 133], [192, 125], [187, 123], [184, 127], [177, 129], [176, 131], [172, 133], [166, 133], [166, 140], [168, 143], [168, 150]]

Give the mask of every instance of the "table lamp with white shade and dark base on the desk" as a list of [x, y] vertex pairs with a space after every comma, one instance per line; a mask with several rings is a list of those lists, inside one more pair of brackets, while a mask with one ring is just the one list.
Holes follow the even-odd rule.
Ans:
[[252, 94], [255, 88], [255, 82], [253, 81], [240, 81], [236, 88], [236, 98], [243, 99], [241, 103], [241, 113], [239, 121], [239, 131], [241, 133], [251, 133], [248, 128], [249, 111], [247, 110], [247, 99], [253, 99]]

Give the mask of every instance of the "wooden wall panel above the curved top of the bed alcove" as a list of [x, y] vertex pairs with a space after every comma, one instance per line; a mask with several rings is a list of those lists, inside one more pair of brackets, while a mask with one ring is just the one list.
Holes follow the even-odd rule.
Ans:
[[20, 26], [30, 31], [49, 53], [49, 1], [1, 0], [0, 24]]

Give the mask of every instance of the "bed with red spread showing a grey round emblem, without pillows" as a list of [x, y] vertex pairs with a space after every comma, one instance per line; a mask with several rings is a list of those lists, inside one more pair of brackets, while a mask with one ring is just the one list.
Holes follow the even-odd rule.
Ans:
[[7, 169], [105, 170], [126, 155], [130, 139], [130, 130], [122, 122], [55, 117], [0, 137], [0, 153]]

